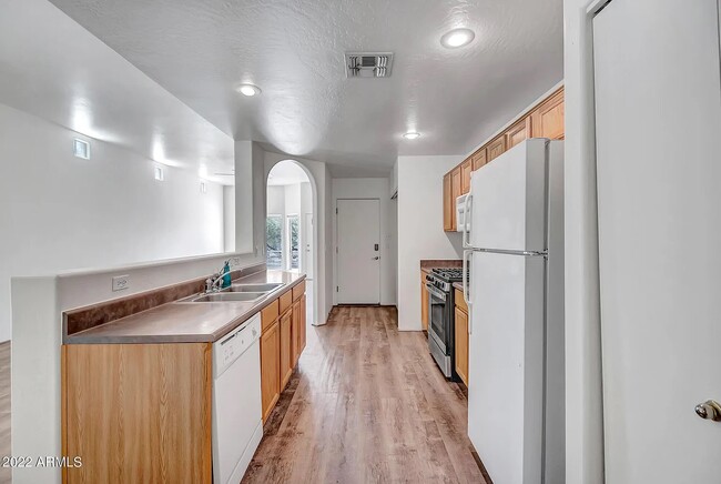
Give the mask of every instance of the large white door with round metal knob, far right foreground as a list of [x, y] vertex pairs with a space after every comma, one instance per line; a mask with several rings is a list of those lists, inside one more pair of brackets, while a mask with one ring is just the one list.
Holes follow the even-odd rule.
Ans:
[[609, 483], [721, 480], [717, 0], [613, 0], [593, 20]]

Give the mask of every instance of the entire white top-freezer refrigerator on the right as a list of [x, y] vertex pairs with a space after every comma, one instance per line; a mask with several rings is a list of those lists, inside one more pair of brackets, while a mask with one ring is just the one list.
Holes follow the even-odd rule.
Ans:
[[563, 483], [563, 142], [507, 151], [466, 203], [468, 435], [494, 482]]

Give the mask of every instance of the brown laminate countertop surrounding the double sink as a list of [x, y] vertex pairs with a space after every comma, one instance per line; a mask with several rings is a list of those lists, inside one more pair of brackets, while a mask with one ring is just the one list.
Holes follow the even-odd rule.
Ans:
[[256, 272], [233, 282], [284, 285], [253, 302], [171, 302], [71, 334], [65, 343], [213, 343], [303, 280], [305, 274], [293, 272]]

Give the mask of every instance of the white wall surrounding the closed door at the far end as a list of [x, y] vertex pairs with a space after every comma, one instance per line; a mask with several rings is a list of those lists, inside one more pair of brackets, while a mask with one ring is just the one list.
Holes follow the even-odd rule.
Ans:
[[[392, 255], [392, 244], [395, 241], [397, 226], [393, 224], [390, 195], [388, 194], [387, 178], [346, 178], [333, 179], [333, 248], [337, 244], [337, 215], [335, 209], [339, 199], [378, 199], [380, 202], [380, 304], [394, 305], [395, 298], [395, 260]], [[337, 254], [334, 255], [334, 268], [337, 268]], [[333, 288], [337, 285], [338, 274], [333, 271]], [[333, 292], [333, 303], [337, 304], [337, 293]]]

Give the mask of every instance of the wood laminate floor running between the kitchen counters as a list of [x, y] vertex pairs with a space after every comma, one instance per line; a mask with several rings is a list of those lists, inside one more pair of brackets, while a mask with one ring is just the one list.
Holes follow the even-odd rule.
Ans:
[[484, 483], [466, 426], [423, 333], [392, 307], [336, 307], [308, 327], [243, 483]]

